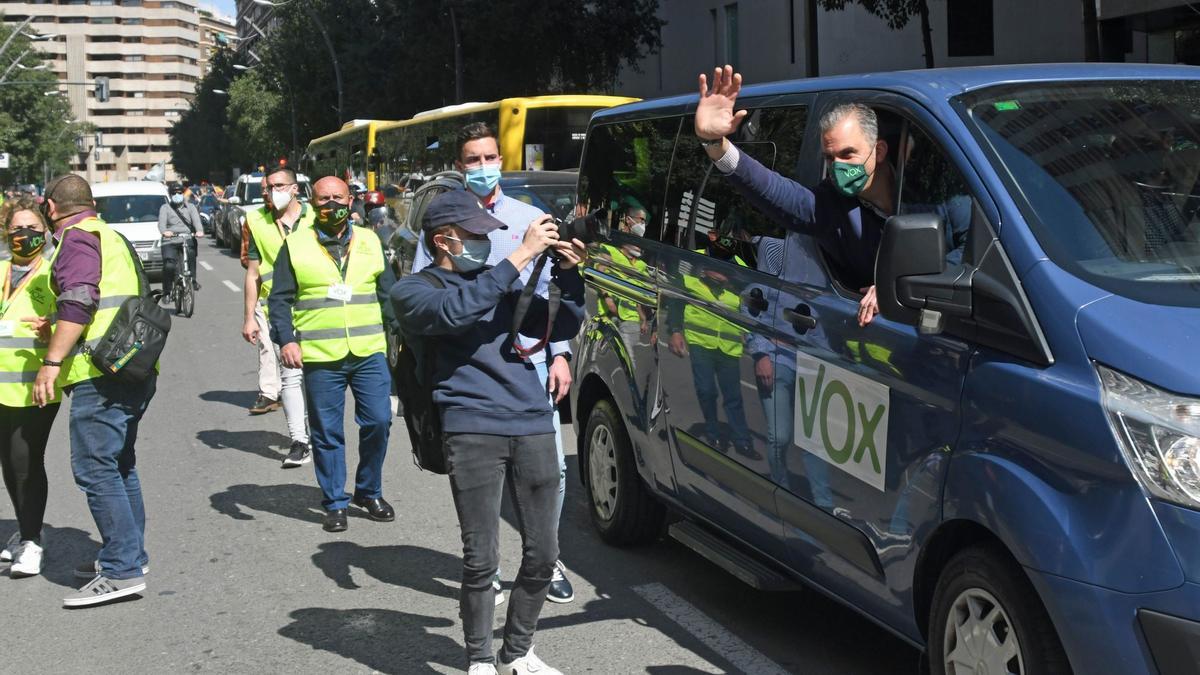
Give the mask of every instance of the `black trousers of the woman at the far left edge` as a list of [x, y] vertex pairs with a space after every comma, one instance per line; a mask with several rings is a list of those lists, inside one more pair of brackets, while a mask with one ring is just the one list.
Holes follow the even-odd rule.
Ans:
[[41, 542], [49, 492], [46, 442], [58, 413], [59, 404], [44, 408], [0, 406], [0, 470], [23, 540]]

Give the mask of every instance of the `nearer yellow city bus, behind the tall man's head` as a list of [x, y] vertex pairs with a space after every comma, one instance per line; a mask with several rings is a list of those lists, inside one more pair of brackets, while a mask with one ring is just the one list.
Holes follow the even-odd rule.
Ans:
[[391, 198], [414, 181], [454, 168], [455, 135], [474, 121], [497, 130], [503, 171], [575, 168], [592, 113], [634, 101], [625, 96], [530, 96], [460, 103], [383, 123], [374, 135], [377, 183]]

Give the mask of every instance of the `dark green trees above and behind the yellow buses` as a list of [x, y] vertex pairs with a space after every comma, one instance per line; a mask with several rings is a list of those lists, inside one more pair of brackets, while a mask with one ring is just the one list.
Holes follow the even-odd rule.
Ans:
[[[658, 49], [656, 10], [658, 0], [294, 0], [256, 41], [262, 64], [244, 61], [256, 67], [229, 88], [230, 157], [248, 167], [292, 148], [293, 104], [302, 149], [352, 119], [406, 119], [461, 102], [455, 25], [466, 101], [611, 92], [623, 64]], [[344, 119], [313, 16], [341, 65]]]

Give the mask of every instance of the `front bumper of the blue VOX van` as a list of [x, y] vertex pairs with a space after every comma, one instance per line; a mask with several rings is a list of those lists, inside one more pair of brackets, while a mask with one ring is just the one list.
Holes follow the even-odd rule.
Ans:
[[1194, 675], [1200, 584], [1121, 593], [1026, 568], [1075, 673]]

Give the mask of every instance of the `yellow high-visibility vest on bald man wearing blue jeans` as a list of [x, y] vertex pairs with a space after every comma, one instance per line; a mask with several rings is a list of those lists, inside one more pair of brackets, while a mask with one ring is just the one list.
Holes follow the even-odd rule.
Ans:
[[[288, 256], [296, 275], [292, 324], [305, 363], [329, 363], [348, 354], [367, 357], [388, 351], [376, 283], [383, 274], [383, 245], [374, 232], [350, 226], [342, 269], [307, 228], [288, 235]], [[336, 288], [348, 292], [337, 298]]]

